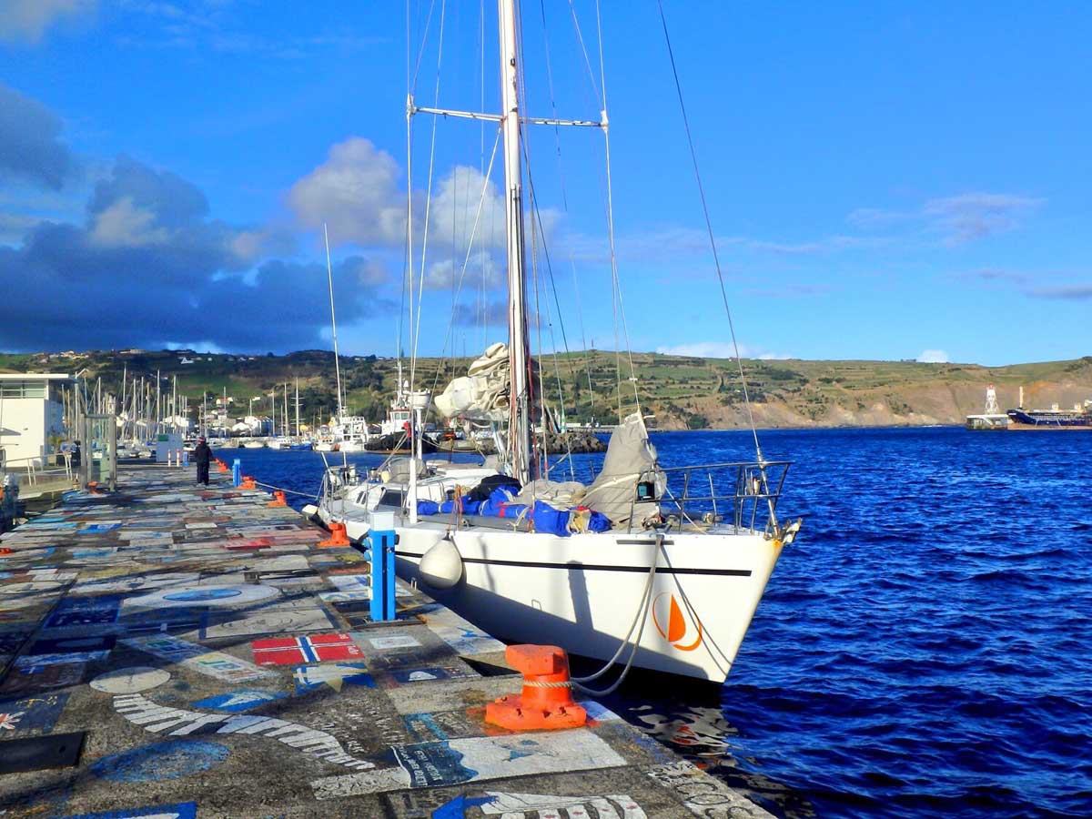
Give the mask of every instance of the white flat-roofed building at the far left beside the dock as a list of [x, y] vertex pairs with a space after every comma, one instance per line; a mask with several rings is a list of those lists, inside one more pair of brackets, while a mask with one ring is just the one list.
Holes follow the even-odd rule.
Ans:
[[64, 435], [60, 372], [0, 372], [0, 463], [41, 466], [54, 450], [50, 436]]

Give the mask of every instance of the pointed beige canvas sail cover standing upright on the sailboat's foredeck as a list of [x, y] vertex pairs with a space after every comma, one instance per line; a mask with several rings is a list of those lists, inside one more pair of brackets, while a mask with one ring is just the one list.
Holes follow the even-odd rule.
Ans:
[[652, 499], [637, 501], [638, 484], [643, 482], [654, 485], [654, 498], [660, 498], [667, 486], [666, 476], [656, 465], [656, 448], [649, 440], [644, 419], [633, 413], [610, 434], [603, 470], [581, 502], [603, 512], [615, 525], [641, 524], [660, 512], [660, 505]]

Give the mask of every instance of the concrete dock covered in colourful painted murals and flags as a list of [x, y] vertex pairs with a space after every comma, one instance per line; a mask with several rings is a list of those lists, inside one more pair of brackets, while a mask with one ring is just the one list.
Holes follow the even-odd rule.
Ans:
[[[0, 537], [4, 817], [760, 817], [577, 697], [512, 732], [505, 645], [264, 491], [123, 465]], [[575, 648], [575, 646], [565, 646]]]

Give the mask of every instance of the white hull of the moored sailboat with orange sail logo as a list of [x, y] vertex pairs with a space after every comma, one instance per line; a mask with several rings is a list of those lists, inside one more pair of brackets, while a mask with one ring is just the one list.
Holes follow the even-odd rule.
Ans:
[[[337, 511], [334, 519], [342, 517]], [[361, 537], [367, 521], [353, 510], [344, 520], [349, 537]], [[463, 580], [439, 591], [420, 581], [418, 563], [448, 526], [420, 522], [396, 531], [399, 575], [462, 617], [502, 639], [600, 660], [615, 655], [638, 616], [654, 548], [648, 532], [558, 537], [461, 530], [453, 537]], [[723, 682], [780, 553], [781, 545], [761, 533], [668, 534], [633, 664]], [[620, 662], [628, 656], [627, 649]]]

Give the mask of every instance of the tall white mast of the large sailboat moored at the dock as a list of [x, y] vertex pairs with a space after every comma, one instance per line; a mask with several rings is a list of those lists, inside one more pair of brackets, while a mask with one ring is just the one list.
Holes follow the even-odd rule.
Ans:
[[517, 74], [515, 2], [498, 0], [505, 190], [508, 236], [508, 355], [512, 373], [509, 451], [512, 477], [531, 479], [531, 407], [527, 378], [527, 310], [523, 292], [523, 168], [520, 163], [520, 97]]

